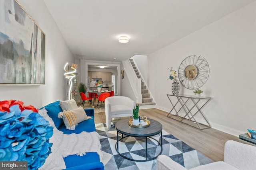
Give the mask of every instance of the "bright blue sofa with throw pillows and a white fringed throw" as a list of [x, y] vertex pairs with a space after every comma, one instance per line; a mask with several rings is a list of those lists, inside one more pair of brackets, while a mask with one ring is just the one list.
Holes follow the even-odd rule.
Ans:
[[[82, 131], [96, 131], [94, 123], [94, 109], [84, 109], [86, 115], [92, 117], [86, 121], [78, 123], [75, 130], [68, 130], [62, 119], [58, 118], [58, 113], [62, 111], [60, 101], [44, 106], [47, 114], [52, 118], [57, 129], [65, 134], [81, 133]], [[104, 170], [104, 165], [100, 162], [100, 156], [96, 152], [87, 152], [84, 156], [70, 155], [64, 158], [66, 170]]]

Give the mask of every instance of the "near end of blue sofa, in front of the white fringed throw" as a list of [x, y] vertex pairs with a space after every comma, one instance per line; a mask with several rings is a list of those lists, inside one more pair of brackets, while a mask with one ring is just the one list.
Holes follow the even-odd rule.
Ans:
[[[99, 155], [96, 152], [87, 152], [84, 156], [70, 155], [63, 158], [66, 168], [69, 170], [102, 170], [104, 166], [100, 162]], [[81, 168], [79, 168], [81, 167]]]

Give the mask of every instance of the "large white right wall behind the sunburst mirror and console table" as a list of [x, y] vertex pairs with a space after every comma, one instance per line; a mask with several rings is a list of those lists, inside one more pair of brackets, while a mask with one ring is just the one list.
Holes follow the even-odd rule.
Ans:
[[[158, 108], [171, 109], [167, 68], [178, 71], [183, 59], [193, 54], [210, 66], [200, 89], [212, 97], [203, 109], [212, 127], [233, 135], [256, 129], [256, 2], [148, 56], [149, 87]], [[181, 94], [193, 95], [193, 90], [182, 88]]]

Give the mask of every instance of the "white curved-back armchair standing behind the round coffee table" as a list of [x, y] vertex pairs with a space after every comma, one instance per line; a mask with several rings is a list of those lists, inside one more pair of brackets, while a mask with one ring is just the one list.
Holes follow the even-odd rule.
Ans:
[[132, 116], [132, 109], [136, 103], [125, 96], [113, 96], [105, 100], [105, 114], [107, 128], [111, 127], [111, 118]]

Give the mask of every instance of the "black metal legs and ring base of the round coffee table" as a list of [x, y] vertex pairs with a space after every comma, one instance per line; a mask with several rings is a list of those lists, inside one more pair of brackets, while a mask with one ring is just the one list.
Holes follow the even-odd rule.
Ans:
[[[132, 161], [136, 161], [136, 162], [146, 162], [146, 161], [150, 161], [150, 160], [154, 160], [155, 158], [157, 158], [160, 154], [162, 154], [162, 151], [163, 151], [163, 147], [162, 147], [162, 131], [161, 131], [161, 143], [159, 142], [159, 141], [157, 141], [156, 139], [154, 139], [154, 138], [152, 138], [152, 137], [149, 137], [149, 138], [151, 138], [151, 139], [154, 139], [155, 141], [157, 141], [158, 143], [159, 143], [159, 145], [160, 145], [160, 147], [161, 147], [161, 151], [160, 151], [160, 153], [157, 155], [157, 156], [155, 156], [154, 158], [151, 158], [151, 159], [148, 159], [148, 137], [145, 137], [146, 138], [146, 158], [145, 158], [145, 160], [136, 160], [136, 159], [131, 159], [131, 158], [128, 158], [128, 157], [126, 157], [126, 156], [124, 156], [123, 154], [121, 154], [121, 153], [119, 153], [118, 152], [118, 150], [119, 150], [119, 146], [118, 146], [118, 143], [119, 143], [119, 141], [120, 140], [122, 140], [122, 139], [124, 139], [124, 138], [126, 138], [126, 137], [130, 137], [130, 136], [125, 136], [125, 137], [123, 137], [123, 134], [122, 134], [122, 138], [121, 139], [118, 139], [118, 133], [120, 133], [120, 132], [118, 132], [117, 131], [117, 135], [116, 135], [116, 152], [120, 155], [120, 156], [122, 156], [123, 158], [126, 158], [126, 159], [128, 159], [128, 160], [132, 160]], [[143, 138], [143, 137], [142, 137]]]

